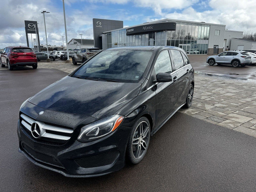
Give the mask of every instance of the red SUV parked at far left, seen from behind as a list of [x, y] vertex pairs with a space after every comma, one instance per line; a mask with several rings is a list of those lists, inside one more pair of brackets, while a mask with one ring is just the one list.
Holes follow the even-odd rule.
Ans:
[[1, 67], [8, 66], [9, 70], [13, 70], [18, 66], [32, 66], [37, 68], [36, 54], [29, 47], [10, 46], [6, 47], [0, 57]]

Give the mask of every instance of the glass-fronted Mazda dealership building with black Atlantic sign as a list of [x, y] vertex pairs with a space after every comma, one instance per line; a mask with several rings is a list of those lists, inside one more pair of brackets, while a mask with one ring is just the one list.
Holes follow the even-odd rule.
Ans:
[[242, 31], [226, 25], [163, 19], [123, 27], [123, 21], [93, 19], [94, 46], [106, 49], [123, 46], [176, 46], [187, 54], [218, 54], [230, 50], [232, 38]]

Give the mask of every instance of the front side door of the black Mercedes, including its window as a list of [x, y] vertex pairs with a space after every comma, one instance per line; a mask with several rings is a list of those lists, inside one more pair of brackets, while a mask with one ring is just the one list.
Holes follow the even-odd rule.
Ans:
[[[172, 64], [168, 50], [163, 50], [158, 55], [154, 65], [154, 75], [158, 73], [172, 73]], [[176, 82], [159, 82], [155, 86], [156, 92], [156, 124], [160, 126], [174, 112], [177, 101]]]

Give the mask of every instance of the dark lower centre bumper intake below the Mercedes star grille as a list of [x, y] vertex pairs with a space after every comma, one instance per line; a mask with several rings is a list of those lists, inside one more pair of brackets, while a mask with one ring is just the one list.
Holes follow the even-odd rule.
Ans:
[[63, 168], [62, 164], [60, 164], [60, 162], [58, 162], [58, 160], [56, 160], [54, 157], [46, 155], [46, 154], [42, 154], [40, 152], [36, 152], [34, 150], [32, 150], [32, 148], [30, 148], [29, 146], [27, 146], [26, 144], [22, 144], [22, 148], [35, 160], [40, 161], [42, 163], [46, 163], [46, 164], [50, 164], [53, 166], [58, 166], [60, 168]]

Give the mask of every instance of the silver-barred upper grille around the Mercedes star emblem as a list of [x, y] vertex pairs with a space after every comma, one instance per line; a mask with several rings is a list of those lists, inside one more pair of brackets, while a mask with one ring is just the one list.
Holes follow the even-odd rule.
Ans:
[[49, 123], [34, 120], [25, 114], [20, 114], [20, 125], [26, 132], [33, 138], [31, 134], [31, 127], [33, 123], [40, 126], [40, 137], [36, 138], [37, 141], [56, 142], [59, 144], [66, 143], [73, 134], [73, 129], [64, 128], [63, 126], [54, 126]]

